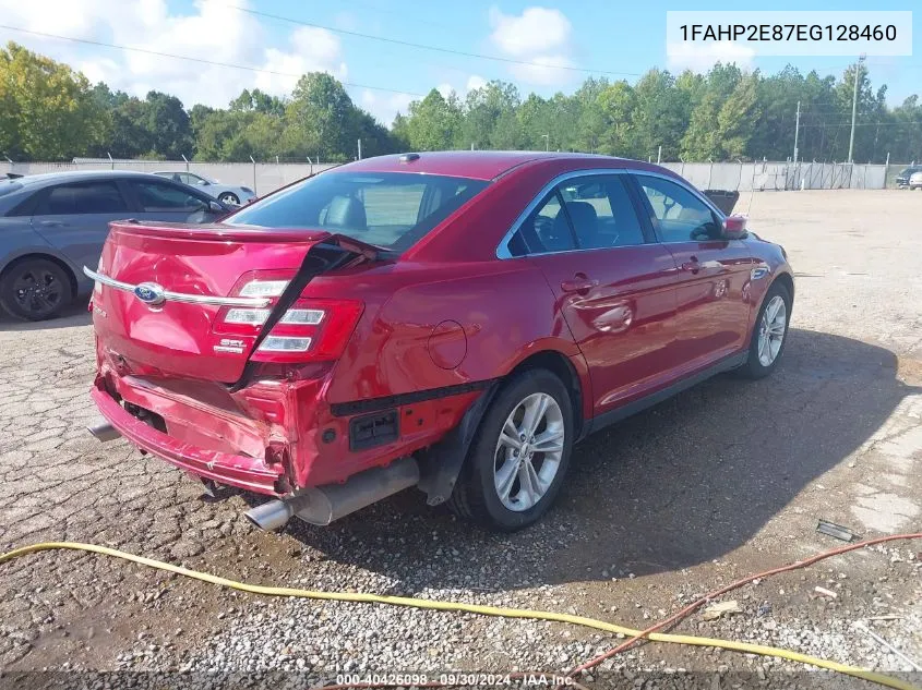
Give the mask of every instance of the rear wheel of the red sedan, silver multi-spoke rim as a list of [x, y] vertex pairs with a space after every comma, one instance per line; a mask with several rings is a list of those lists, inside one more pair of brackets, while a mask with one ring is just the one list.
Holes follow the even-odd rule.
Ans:
[[448, 499], [452, 511], [501, 532], [541, 518], [570, 465], [571, 405], [566, 387], [547, 370], [511, 378], [483, 415]]

